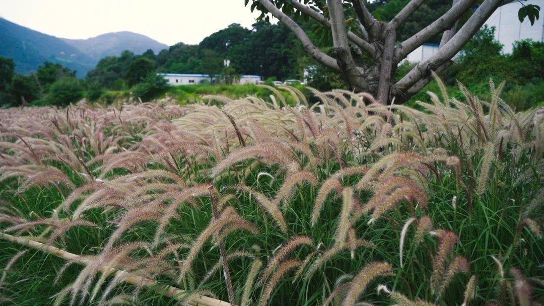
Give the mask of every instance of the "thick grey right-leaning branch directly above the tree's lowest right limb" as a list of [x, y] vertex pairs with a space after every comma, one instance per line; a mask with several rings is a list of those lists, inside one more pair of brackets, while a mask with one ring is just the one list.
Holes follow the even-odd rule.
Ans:
[[461, 15], [470, 9], [474, 3], [476, 3], [476, 0], [459, 0], [456, 4], [452, 5], [452, 8], [450, 8], [444, 15], [429, 24], [429, 26], [426, 26], [411, 38], [401, 42], [395, 49], [395, 63], [399, 63], [406, 57], [406, 55], [410, 54], [410, 52], [414, 51], [417, 47], [423, 45], [423, 43], [432, 38], [432, 36], [452, 28], [459, 20]]

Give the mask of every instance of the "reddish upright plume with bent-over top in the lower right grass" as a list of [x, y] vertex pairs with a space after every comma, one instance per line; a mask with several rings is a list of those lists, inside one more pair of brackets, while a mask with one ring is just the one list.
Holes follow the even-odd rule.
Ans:
[[432, 263], [430, 286], [433, 294], [438, 294], [440, 292], [440, 284], [444, 277], [444, 264], [446, 263], [449, 254], [453, 252], [456, 243], [459, 241], [455, 233], [446, 229], [437, 229], [436, 236], [438, 237], [438, 249]]

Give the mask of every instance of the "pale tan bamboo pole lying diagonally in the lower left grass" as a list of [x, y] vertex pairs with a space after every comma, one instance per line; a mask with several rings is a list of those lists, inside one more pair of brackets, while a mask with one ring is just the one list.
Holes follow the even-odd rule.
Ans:
[[[57, 248], [57, 247], [54, 247], [54, 246], [51, 246], [51, 245], [46, 245], [45, 243], [30, 240], [30, 239], [27, 239], [27, 238], [12, 236], [12, 235], [5, 234], [5, 233], [2, 233], [2, 232], [0, 232], [0, 238], [2, 238], [4, 240], [7, 240], [7, 241], [10, 241], [10, 242], [17, 243], [18, 245], [27, 246], [27, 247], [30, 247], [30, 248], [37, 249], [37, 250], [39, 250], [41, 252], [44, 252], [44, 253], [52, 254], [54, 256], [60, 257], [60, 258], [65, 259], [65, 260], [73, 260], [75, 263], [80, 264], [80, 265], [85, 266], [85, 265], [89, 265], [89, 264], [91, 264], [93, 262], [93, 260], [90, 259], [90, 258], [82, 257], [80, 255], [76, 255], [76, 254], [73, 254], [73, 253], [69, 253], [69, 252], [64, 251], [63, 249], [60, 249], [60, 248]], [[168, 286], [168, 285], [165, 285], [165, 284], [160, 284], [160, 283], [156, 282], [155, 280], [147, 279], [147, 278], [144, 278], [144, 277], [141, 277], [141, 276], [138, 276], [138, 275], [134, 275], [134, 274], [132, 274], [130, 272], [127, 272], [125, 270], [120, 270], [120, 269], [116, 269], [114, 267], [110, 267], [110, 266], [105, 265], [105, 266], [100, 267], [100, 271], [102, 273], [114, 273], [115, 276], [121, 278], [123, 280], [123, 282], [133, 284], [133, 285], [137, 285], [137, 286], [141, 286], [143, 288], [158, 292], [158, 293], [160, 293], [160, 294], [162, 294], [164, 296], [168, 296], [168, 297], [174, 298], [176, 300], [181, 300], [184, 296], [187, 296], [187, 294], [186, 294], [187, 291], [184, 291], [184, 290], [172, 287], [172, 286]], [[230, 303], [220, 301], [219, 299], [215, 299], [215, 298], [211, 298], [211, 297], [207, 297], [207, 296], [195, 297], [191, 301], [189, 301], [189, 304], [193, 305], [193, 306], [231, 306]]]

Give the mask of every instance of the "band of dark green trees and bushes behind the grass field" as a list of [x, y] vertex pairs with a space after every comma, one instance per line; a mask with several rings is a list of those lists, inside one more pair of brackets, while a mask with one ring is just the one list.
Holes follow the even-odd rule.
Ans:
[[[391, 3], [391, 2], [390, 2]], [[392, 5], [392, 4], [388, 4]], [[385, 6], [387, 7], [387, 5]], [[384, 8], [385, 8], [384, 7]], [[321, 35], [319, 29], [309, 26], [312, 35]], [[119, 57], [106, 57], [90, 71], [85, 80], [64, 80], [75, 77], [75, 72], [60, 64], [45, 63], [34, 74], [16, 74], [13, 61], [0, 59], [0, 100], [2, 105], [21, 105], [22, 98], [35, 105], [67, 105], [86, 97], [88, 101], [112, 103], [125, 97], [140, 97], [149, 100], [164, 96], [175, 96], [183, 103], [196, 101], [199, 95], [218, 94], [242, 97], [255, 92], [251, 86], [214, 88], [210, 84], [200, 86], [181, 86], [169, 88], [157, 77], [156, 72], [190, 73], [255, 73], [268, 77], [268, 80], [301, 78], [304, 67], [308, 68], [308, 85], [319, 90], [332, 88], [348, 89], [344, 80], [326, 67], [316, 65], [304, 56], [298, 42], [281, 25], [257, 23], [250, 31], [233, 24], [212, 34], [200, 45], [191, 46], [179, 43], [154, 54], [149, 50], [141, 55], [129, 51]], [[266, 39], [263, 39], [266, 38]], [[325, 38], [324, 38], [325, 39]], [[228, 43], [228, 47], [226, 45]], [[295, 46], [295, 48], [293, 48]], [[442, 77], [451, 95], [462, 97], [456, 81], [480, 97], [487, 97], [487, 83], [483, 80], [493, 78], [496, 82], [505, 81], [502, 97], [517, 110], [523, 110], [543, 102], [544, 72], [536, 67], [544, 66], [544, 43], [534, 41], [518, 42], [512, 54], [501, 54], [502, 46], [493, 39], [493, 29], [483, 28], [468, 43], [456, 63]], [[223, 67], [222, 59], [231, 58], [231, 66]], [[397, 76], [403, 76], [413, 65], [403, 64]], [[48, 97], [50, 86], [55, 86], [55, 98]], [[70, 86], [66, 86], [69, 85]], [[199, 88], [200, 87], [200, 88]], [[221, 87], [221, 86], [220, 86]], [[197, 89], [199, 88], [199, 89]], [[73, 92], [61, 93], [60, 90]], [[421, 93], [411, 99], [429, 101], [425, 91], [438, 90], [436, 82], [431, 82]], [[310, 98], [305, 91], [307, 98]]]

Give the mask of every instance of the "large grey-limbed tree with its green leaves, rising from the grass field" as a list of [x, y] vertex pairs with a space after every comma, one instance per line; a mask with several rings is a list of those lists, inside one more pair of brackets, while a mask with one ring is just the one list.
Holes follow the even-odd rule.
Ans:
[[[441, 0], [434, 1], [439, 7], [443, 3]], [[452, 58], [504, 3], [503, 0], [483, 0], [476, 10], [472, 10], [477, 1], [452, 0], [447, 10], [439, 11], [440, 16], [425, 21], [430, 23], [418, 30], [410, 26], [410, 18], [416, 18], [415, 21], [419, 22], [417, 19], [423, 20], [436, 10], [430, 7], [425, 9], [422, 6], [424, 0], [392, 0], [385, 6], [394, 14], [383, 12], [383, 15], [387, 15], [385, 17], [380, 16], [379, 12], [371, 14], [367, 1], [362, 0], [245, 1], [246, 4], [250, 2], [252, 11], [261, 11], [260, 20], [267, 20], [269, 14], [276, 17], [289, 28], [315, 61], [342, 75], [350, 88], [373, 94], [381, 104], [388, 104], [393, 98], [395, 103], [404, 103], [422, 90], [432, 79], [431, 72], [441, 73], [451, 66]], [[537, 14], [534, 9], [527, 13], [531, 15], [532, 23]], [[327, 48], [316, 45], [316, 41], [296, 22], [302, 23], [310, 18], [320, 25], [323, 33], [332, 36], [332, 43]], [[403, 33], [403, 27], [407, 28], [405, 33], [418, 32], [409, 37], [399, 36], [399, 33]], [[421, 61], [403, 78], [393, 82], [399, 63], [441, 33], [440, 52]], [[361, 61], [364, 57], [372, 60]]]

